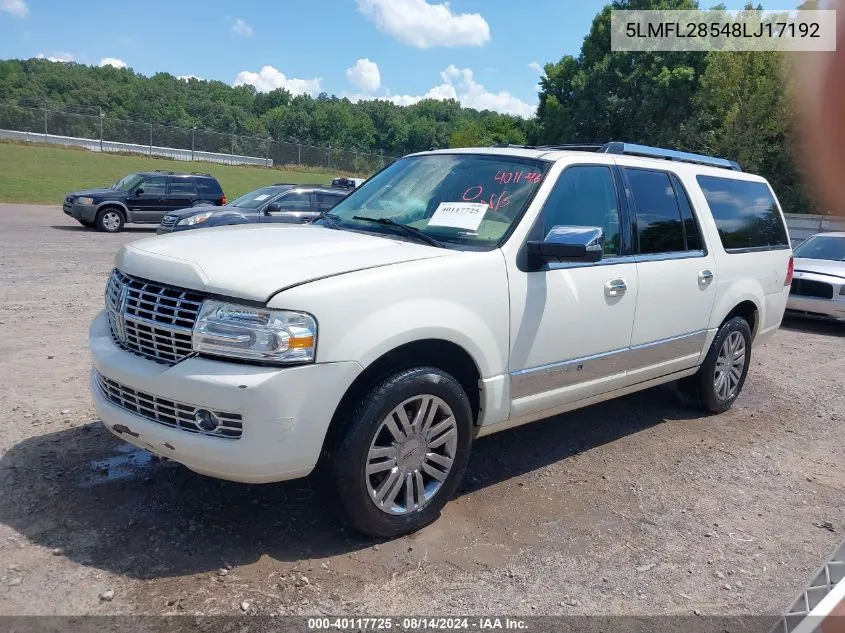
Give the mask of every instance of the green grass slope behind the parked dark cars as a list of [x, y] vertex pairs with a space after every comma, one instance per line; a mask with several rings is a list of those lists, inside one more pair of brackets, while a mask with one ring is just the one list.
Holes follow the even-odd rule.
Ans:
[[[234, 167], [81, 148], [0, 143], [0, 202], [61, 204], [71, 191], [110, 186], [133, 171], [162, 169], [214, 175], [229, 200], [275, 182], [328, 184], [331, 175], [266, 167]], [[305, 168], [303, 168], [305, 169]]]

